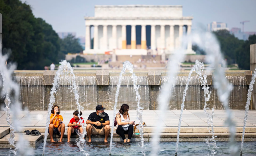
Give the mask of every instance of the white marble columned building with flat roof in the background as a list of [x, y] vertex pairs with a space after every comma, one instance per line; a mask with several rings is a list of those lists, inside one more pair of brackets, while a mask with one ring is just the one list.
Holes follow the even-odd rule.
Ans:
[[[147, 51], [172, 53], [181, 38], [191, 33], [193, 17], [183, 17], [181, 5], [96, 5], [95, 16], [84, 19], [84, 53], [115, 49], [117, 55], [147, 55]], [[191, 43], [187, 53], [195, 53]]]

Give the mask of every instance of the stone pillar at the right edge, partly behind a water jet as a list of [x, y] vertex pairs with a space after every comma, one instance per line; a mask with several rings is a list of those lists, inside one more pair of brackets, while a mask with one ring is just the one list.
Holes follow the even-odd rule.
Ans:
[[[254, 72], [256, 67], [256, 44], [250, 45], [250, 71], [251, 73]], [[256, 83], [253, 85], [252, 91], [252, 105], [256, 108]]]

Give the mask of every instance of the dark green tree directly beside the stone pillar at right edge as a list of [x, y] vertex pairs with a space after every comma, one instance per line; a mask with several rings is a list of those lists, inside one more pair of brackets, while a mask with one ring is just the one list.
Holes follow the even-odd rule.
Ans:
[[256, 43], [256, 35], [249, 36], [237, 50], [236, 50], [236, 60], [238, 67], [243, 70], [250, 70], [250, 44]]

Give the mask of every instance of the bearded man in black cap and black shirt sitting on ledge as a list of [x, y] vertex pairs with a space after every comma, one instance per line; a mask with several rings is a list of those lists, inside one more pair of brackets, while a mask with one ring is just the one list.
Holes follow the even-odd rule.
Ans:
[[108, 114], [104, 112], [106, 108], [101, 105], [96, 107], [96, 112], [89, 115], [86, 120], [86, 132], [89, 138], [88, 142], [91, 142], [91, 134], [93, 135], [105, 135], [104, 141], [107, 142], [107, 138], [110, 133], [110, 122]]

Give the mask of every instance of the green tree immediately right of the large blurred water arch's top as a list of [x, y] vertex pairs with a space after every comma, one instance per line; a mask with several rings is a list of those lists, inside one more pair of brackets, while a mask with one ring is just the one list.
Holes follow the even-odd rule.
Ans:
[[230, 62], [233, 62], [232, 60], [235, 60], [237, 58], [236, 49], [239, 48], [244, 41], [237, 39], [227, 30], [219, 30], [213, 33], [216, 35], [220, 43], [221, 52], [224, 58], [226, 58], [228, 64], [230, 64]]

